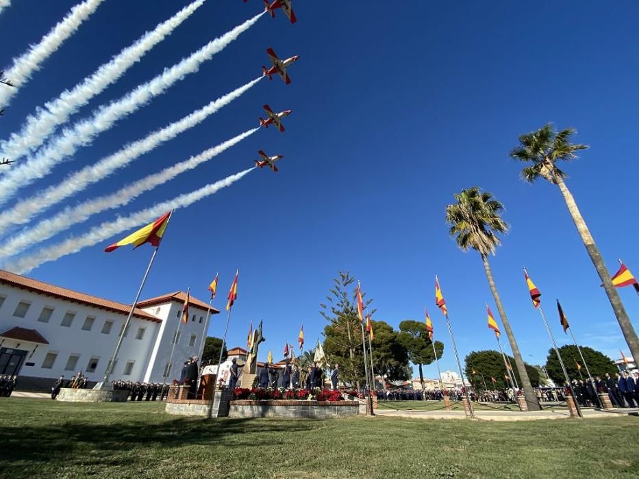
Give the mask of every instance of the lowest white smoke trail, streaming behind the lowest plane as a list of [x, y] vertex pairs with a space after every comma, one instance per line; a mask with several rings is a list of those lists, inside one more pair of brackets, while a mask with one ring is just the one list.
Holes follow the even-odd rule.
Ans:
[[166, 211], [188, 207], [202, 198], [215, 194], [223, 187], [232, 185], [253, 170], [255, 170], [255, 167], [236, 174], [231, 174], [231, 176], [220, 181], [216, 181], [215, 183], [205, 185], [199, 188], [199, 190], [181, 194], [172, 200], [164, 201], [164, 203], [160, 203], [159, 205], [155, 205], [147, 209], [142, 209], [141, 211], [129, 216], [117, 218], [114, 221], [103, 222], [99, 226], [95, 226], [90, 229], [90, 231], [84, 235], [69, 237], [63, 242], [42, 248], [30, 256], [12, 261], [5, 265], [5, 269], [18, 274], [26, 274], [44, 263], [55, 261], [63, 256], [71, 255], [72, 253], [77, 253], [79, 250], [82, 250], [87, 246], [93, 246], [104, 239], [112, 237], [113, 235], [117, 235], [123, 231], [133, 229], [136, 226], [149, 223], [157, 219], [158, 216], [162, 215], [162, 213], [166, 213]]

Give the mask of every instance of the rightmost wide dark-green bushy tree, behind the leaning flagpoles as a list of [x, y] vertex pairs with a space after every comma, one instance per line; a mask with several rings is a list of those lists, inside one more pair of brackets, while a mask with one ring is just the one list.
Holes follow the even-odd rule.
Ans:
[[[588, 373], [586, 373], [584, 361], [581, 361], [577, 346], [574, 344], [566, 344], [566, 346], [559, 348], [559, 354], [562, 355], [562, 360], [564, 361], [564, 366], [566, 366], [566, 372], [568, 372], [569, 378], [581, 379], [581, 377], [583, 377], [585, 380], [588, 380]], [[617, 368], [612, 362], [612, 359], [603, 354], [603, 352], [599, 352], [588, 346], [581, 346], [581, 354], [584, 354], [584, 360], [588, 365], [588, 370], [590, 370], [592, 378], [594, 378], [594, 376], [603, 378], [607, 372], [612, 376], [617, 372]], [[577, 370], [577, 363], [575, 363], [575, 361], [578, 361], [579, 365], [581, 365], [581, 376], [579, 376], [579, 370]], [[562, 367], [553, 348], [548, 350], [546, 370], [556, 385], [562, 385], [566, 382], [564, 372], [562, 372]]]

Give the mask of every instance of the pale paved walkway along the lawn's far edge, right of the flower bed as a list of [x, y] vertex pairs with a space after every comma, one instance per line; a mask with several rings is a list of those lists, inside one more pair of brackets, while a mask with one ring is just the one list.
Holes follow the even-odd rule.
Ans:
[[[486, 411], [474, 410], [475, 417], [484, 421], [537, 421], [539, 419], [567, 419], [571, 417], [568, 409], [544, 409], [542, 411]], [[616, 415], [638, 415], [639, 409], [625, 408], [595, 411], [594, 409], [582, 409], [584, 419], [601, 417], [614, 417]], [[375, 414], [384, 417], [412, 417], [413, 419], [466, 419], [464, 411], [392, 411], [389, 409], [376, 409]]]

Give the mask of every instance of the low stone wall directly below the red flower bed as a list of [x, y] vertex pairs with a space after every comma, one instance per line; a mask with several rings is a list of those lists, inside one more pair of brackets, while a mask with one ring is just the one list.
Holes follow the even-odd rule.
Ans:
[[329, 419], [360, 414], [358, 401], [231, 401], [229, 417], [312, 417]]

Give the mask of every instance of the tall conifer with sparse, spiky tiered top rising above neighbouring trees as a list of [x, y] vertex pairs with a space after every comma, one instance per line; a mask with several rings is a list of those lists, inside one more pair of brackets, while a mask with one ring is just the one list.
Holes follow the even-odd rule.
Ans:
[[[324, 352], [331, 363], [340, 364], [340, 378], [350, 383], [364, 381], [364, 352], [362, 350], [362, 326], [355, 307], [355, 279], [350, 272], [340, 271], [333, 280], [333, 287], [321, 303], [320, 314], [329, 322], [324, 328]], [[371, 300], [362, 294], [364, 306]], [[373, 315], [374, 309], [369, 309]]]

